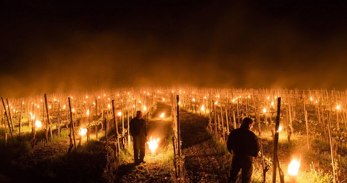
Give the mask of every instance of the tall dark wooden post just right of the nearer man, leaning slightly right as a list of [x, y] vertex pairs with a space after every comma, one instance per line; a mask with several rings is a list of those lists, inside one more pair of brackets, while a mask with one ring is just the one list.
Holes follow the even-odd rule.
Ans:
[[277, 161], [278, 161], [278, 128], [280, 127], [280, 113], [281, 113], [281, 97], [278, 97], [277, 99], [277, 117], [276, 117], [276, 124], [275, 124], [275, 140], [274, 140], [274, 168], [273, 168], [273, 177], [272, 182], [276, 183], [276, 171], [277, 171]]

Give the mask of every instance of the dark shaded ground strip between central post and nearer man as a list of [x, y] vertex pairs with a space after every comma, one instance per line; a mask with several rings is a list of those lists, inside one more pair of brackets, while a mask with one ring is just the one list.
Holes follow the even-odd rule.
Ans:
[[226, 182], [230, 159], [208, 133], [208, 118], [184, 111], [180, 117], [187, 182]]

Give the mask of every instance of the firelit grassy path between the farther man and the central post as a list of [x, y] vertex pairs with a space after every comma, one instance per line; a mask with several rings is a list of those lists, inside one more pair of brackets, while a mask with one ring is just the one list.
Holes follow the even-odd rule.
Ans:
[[[160, 114], [164, 112], [165, 117], [160, 119]], [[125, 162], [119, 167], [119, 182], [170, 182], [170, 167], [172, 149], [169, 149], [170, 137], [172, 136], [171, 107], [158, 103], [156, 111], [151, 120], [147, 120], [148, 136], [160, 138], [156, 156], [151, 156], [148, 146], [146, 155], [140, 165], [133, 163], [133, 150], [129, 148]]]

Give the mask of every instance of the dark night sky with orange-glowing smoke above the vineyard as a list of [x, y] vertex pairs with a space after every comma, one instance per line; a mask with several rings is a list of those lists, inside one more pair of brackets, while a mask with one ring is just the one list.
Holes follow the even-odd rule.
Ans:
[[0, 94], [345, 89], [344, 1], [3, 1]]

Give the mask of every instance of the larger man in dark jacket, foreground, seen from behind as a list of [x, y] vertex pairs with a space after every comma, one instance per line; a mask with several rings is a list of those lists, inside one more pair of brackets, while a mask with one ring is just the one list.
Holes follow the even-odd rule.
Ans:
[[242, 183], [251, 181], [253, 172], [253, 157], [260, 151], [260, 144], [257, 136], [250, 131], [254, 125], [251, 118], [245, 117], [240, 128], [230, 132], [227, 140], [227, 148], [232, 153], [228, 182], [235, 182], [237, 175], [242, 169]]

